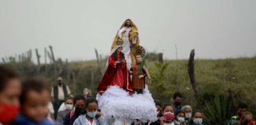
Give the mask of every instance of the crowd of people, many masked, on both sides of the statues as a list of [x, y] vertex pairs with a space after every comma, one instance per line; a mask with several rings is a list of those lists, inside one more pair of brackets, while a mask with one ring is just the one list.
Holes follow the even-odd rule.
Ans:
[[[171, 103], [155, 100], [158, 120], [133, 125], [207, 125], [204, 114], [190, 105], [182, 105], [183, 95], [176, 92]], [[207, 121], [207, 120], [206, 120]], [[108, 123], [98, 109], [98, 101], [87, 88], [83, 94], [71, 93], [61, 77], [51, 89], [38, 79], [21, 80], [12, 68], [0, 66], [0, 125], [127, 125], [125, 121]], [[240, 103], [237, 115], [228, 125], [255, 125], [247, 105]]]

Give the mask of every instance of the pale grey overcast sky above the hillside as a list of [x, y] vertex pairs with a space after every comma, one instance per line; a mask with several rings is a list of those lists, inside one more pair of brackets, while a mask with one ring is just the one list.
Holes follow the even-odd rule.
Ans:
[[[130, 18], [140, 45], [165, 59], [253, 57], [256, 0], [0, 0], [0, 57], [53, 46], [70, 61], [108, 55]], [[49, 49], [48, 49], [49, 50]]]

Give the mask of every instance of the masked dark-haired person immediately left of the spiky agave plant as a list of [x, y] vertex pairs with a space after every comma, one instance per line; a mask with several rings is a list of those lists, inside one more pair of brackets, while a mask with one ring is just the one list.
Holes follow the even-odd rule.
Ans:
[[207, 125], [206, 123], [203, 123], [203, 112], [201, 110], [195, 109], [192, 112], [189, 125]]

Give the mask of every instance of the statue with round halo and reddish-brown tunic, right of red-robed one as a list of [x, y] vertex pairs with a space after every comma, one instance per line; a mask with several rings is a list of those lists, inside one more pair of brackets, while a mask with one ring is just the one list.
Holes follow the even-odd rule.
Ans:
[[[145, 66], [145, 57], [146, 51], [142, 46], [135, 46], [132, 51], [134, 57], [136, 57], [136, 63], [130, 69], [130, 73], [133, 75], [132, 84], [134, 92], [137, 94], [142, 94], [143, 89], [145, 89], [145, 77], [147, 76], [148, 80], [151, 79], [150, 74]], [[143, 59], [142, 59], [143, 58]]]

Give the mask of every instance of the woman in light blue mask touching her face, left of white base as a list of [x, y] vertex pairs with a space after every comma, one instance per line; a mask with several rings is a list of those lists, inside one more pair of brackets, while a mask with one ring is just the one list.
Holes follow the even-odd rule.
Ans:
[[98, 112], [98, 101], [95, 98], [88, 98], [81, 115], [73, 125], [109, 125], [102, 115]]

